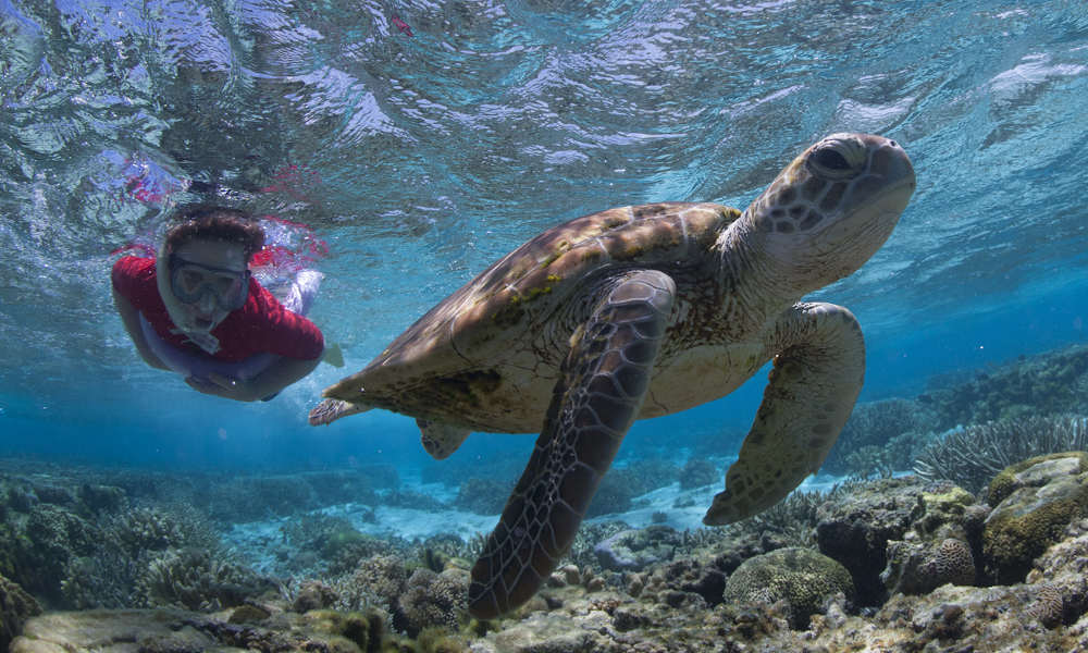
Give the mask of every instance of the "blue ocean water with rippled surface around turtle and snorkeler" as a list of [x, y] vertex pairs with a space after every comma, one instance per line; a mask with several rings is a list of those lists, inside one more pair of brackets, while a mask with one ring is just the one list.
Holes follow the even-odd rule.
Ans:
[[[408, 418], [306, 412], [540, 231], [627, 204], [743, 208], [837, 131], [895, 138], [918, 177], [887, 245], [815, 295], [862, 322], [863, 401], [1084, 342], [1086, 97], [1074, 1], [0, 0], [0, 454], [422, 465]], [[345, 368], [242, 405], [143, 365], [111, 252], [209, 189], [327, 244], [311, 317]], [[622, 455], [743, 434], [765, 378], [638, 423]]]

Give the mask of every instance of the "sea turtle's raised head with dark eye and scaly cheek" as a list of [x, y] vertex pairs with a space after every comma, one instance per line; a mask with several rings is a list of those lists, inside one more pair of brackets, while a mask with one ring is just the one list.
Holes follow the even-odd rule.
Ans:
[[852, 274], [883, 245], [914, 186], [894, 140], [832, 134], [794, 159], [745, 218], [787, 283], [809, 292]]

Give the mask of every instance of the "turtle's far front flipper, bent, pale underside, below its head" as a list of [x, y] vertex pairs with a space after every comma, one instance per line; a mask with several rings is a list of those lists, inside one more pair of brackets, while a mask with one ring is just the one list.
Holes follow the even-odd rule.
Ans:
[[740, 457], [703, 517], [720, 526], [756, 515], [815, 473], [846, 423], [865, 377], [857, 320], [832, 304], [798, 304], [775, 325], [777, 352]]

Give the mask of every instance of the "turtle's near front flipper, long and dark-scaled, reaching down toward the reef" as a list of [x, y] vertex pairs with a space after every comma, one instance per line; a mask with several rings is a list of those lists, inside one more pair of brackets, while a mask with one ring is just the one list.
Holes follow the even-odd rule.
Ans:
[[664, 272], [626, 273], [571, 337], [536, 448], [472, 567], [472, 615], [523, 604], [570, 547], [642, 405], [675, 294]]

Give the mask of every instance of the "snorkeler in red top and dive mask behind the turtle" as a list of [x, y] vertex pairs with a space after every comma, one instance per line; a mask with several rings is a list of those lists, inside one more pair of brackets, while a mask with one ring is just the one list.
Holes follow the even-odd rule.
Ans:
[[136, 350], [195, 390], [239, 402], [270, 399], [321, 361], [324, 337], [307, 312], [321, 273], [302, 270], [285, 301], [249, 270], [264, 244], [245, 211], [182, 207], [157, 259], [113, 266], [113, 300]]

